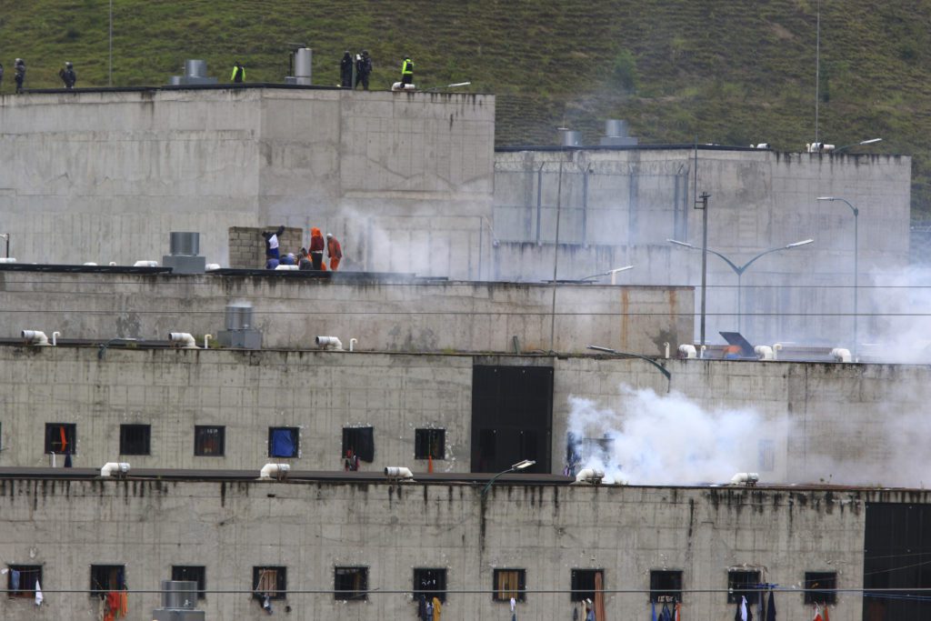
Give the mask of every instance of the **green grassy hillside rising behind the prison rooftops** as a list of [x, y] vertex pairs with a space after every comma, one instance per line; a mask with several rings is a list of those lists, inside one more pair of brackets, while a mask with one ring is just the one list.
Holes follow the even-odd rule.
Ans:
[[[498, 95], [499, 144], [552, 144], [555, 128], [596, 141], [624, 118], [643, 143], [815, 139], [817, 0], [114, 0], [114, 86], [166, 84], [184, 59], [228, 77], [281, 82], [289, 42], [314, 49], [314, 81], [336, 84], [344, 49], [422, 87], [471, 80]], [[14, 58], [27, 88], [106, 86], [109, 0], [0, 0], [2, 91]], [[914, 157], [912, 206], [931, 217], [931, 0], [821, 0], [819, 138], [882, 137], [863, 153]], [[851, 150], [857, 152], [856, 149]]]

